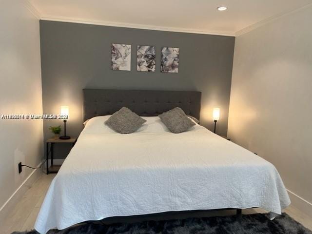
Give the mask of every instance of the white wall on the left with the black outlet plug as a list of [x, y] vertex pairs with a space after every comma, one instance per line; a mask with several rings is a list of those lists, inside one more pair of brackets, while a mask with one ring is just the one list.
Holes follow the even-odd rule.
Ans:
[[[21, 0], [1, 0], [0, 115], [42, 113], [39, 20]], [[43, 157], [41, 120], [0, 119], [0, 207]]]

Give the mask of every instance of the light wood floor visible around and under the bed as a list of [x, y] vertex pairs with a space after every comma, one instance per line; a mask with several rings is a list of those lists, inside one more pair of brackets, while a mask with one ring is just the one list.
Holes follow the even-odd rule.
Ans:
[[[15, 208], [7, 215], [5, 220], [0, 220], [0, 234], [11, 234], [14, 231], [25, 231], [34, 229], [34, 224], [39, 213], [41, 203], [47, 189], [56, 174], [42, 176], [39, 180], [26, 192]], [[211, 212], [208, 216], [228, 215], [233, 211]], [[246, 209], [243, 214], [263, 213], [261, 209]], [[305, 227], [312, 230], [312, 218], [300, 212], [295, 207], [288, 207], [285, 212], [292, 216], [295, 220], [302, 223]], [[226, 214], [228, 213], [228, 214]]]

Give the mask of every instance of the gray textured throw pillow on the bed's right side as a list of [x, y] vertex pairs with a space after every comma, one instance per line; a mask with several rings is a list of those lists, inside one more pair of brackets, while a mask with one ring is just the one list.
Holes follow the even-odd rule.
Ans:
[[184, 111], [176, 107], [158, 116], [173, 133], [182, 133], [194, 126], [195, 123], [185, 115]]

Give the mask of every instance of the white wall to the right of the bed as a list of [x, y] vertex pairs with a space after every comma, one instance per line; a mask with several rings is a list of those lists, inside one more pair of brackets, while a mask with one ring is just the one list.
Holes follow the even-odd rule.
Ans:
[[312, 203], [311, 123], [310, 6], [236, 38], [228, 135]]

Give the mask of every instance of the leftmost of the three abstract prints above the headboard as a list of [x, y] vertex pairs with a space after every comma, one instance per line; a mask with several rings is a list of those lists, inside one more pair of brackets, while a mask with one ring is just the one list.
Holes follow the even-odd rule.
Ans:
[[112, 44], [112, 70], [131, 71], [131, 45]]

